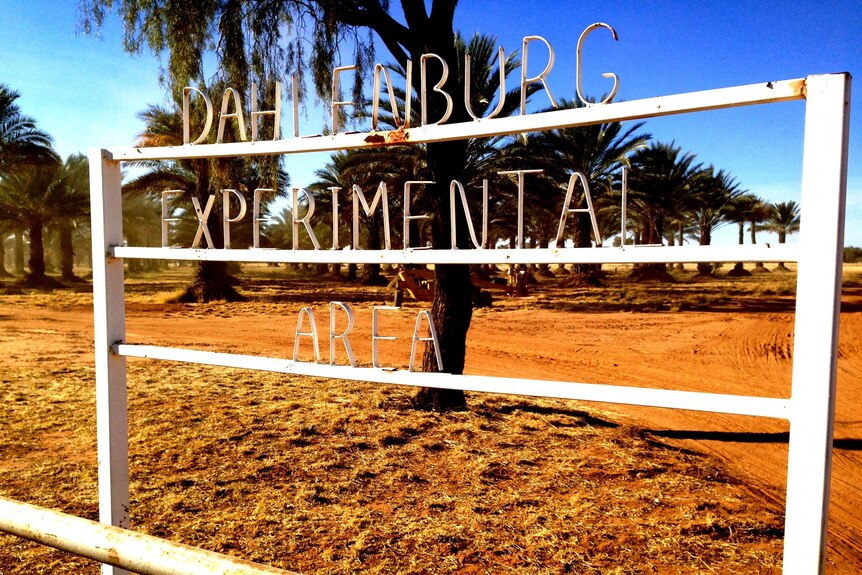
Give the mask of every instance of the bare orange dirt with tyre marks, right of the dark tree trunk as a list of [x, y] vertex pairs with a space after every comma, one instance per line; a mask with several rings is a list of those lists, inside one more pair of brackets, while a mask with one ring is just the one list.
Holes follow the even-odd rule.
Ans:
[[[509, 315], [514, 319], [519, 313]], [[506, 331], [503, 319], [474, 319], [468, 361], [471, 372], [505, 376], [516, 375], [513, 372], [517, 371], [524, 377], [532, 373], [534, 377], [568, 381], [790, 396], [793, 314], [656, 314], [643, 320], [643, 314], [604, 314], [600, 321], [590, 314], [525, 313], [532, 317], [518, 321], [524, 329], [515, 333], [511, 328]], [[862, 571], [862, 534], [856, 512], [862, 508], [860, 327], [862, 314], [843, 314], [835, 427], [839, 447], [833, 457], [827, 555], [827, 572], [836, 575]], [[485, 330], [496, 331], [499, 337], [477, 335]], [[523, 345], [518, 343], [521, 333], [529, 333]], [[544, 355], [555, 356], [556, 360], [545, 363]], [[501, 362], [504, 357], [506, 361]], [[786, 422], [618, 405], [602, 407], [658, 436], [667, 436], [662, 442], [724, 460], [751, 484], [753, 491], [783, 506]], [[689, 439], [683, 439], [686, 437]]]

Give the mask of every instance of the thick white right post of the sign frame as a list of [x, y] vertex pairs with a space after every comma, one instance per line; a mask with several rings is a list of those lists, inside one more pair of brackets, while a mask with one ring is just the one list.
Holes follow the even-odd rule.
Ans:
[[850, 76], [810, 76], [806, 82], [784, 573], [813, 575], [825, 568]]

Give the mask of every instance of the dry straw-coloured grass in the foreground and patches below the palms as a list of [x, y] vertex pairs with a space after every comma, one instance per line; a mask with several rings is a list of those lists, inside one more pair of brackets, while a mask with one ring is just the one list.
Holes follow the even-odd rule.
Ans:
[[[186, 273], [130, 280], [127, 299], [161, 301]], [[258, 302], [243, 305], [318, 298], [265, 269], [246, 277]], [[757, 299], [775, 289], [764, 281], [714, 289]], [[660, 289], [684, 298], [704, 285]], [[603, 289], [649, 307], [659, 288]], [[592, 305], [586, 294], [556, 296]], [[59, 308], [87, 294], [4, 297]], [[520, 305], [551, 301], [539, 290]], [[40, 335], [13, 330], [0, 341], [27, 337]], [[3, 360], [0, 494], [95, 518], [91, 343], [62, 345]], [[436, 414], [411, 409], [411, 393], [130, 361], [133, 527], [304, 573], [780, 573], [780, 508], [708, 457], [576, 402], [472, 396], [469, 411]], [[0, 537], [3, 575], [97, 572]]]

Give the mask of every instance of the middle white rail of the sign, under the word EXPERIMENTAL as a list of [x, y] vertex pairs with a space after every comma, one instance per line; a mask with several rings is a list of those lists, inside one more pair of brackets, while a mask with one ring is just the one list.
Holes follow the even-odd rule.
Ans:
[[499, 250], [273, 250], [117, 246], [116, 258], [344, 264], [629, 264], [696, 262], [795, 262], [796, 244], [625, 246]]

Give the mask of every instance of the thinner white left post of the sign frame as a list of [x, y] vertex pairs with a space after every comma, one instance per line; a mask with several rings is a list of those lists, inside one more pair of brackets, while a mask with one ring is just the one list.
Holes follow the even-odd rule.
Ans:
[[[96, 427], [99, 452], [99, 520], [129, 526], [129, 439], [126, 360], [113, 353], [126, 335], [123, 260], [110, 249], [123, 243], [120, 163], [91, 149], [90, 214], [93, 237], [93, 315], [96, 357]], [[102, 565], [103, 575], [125, 569]]]

